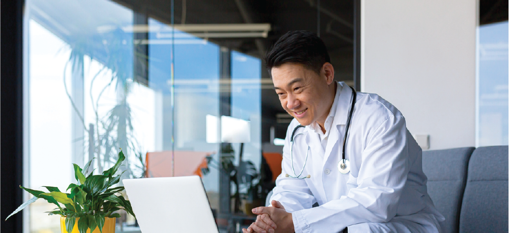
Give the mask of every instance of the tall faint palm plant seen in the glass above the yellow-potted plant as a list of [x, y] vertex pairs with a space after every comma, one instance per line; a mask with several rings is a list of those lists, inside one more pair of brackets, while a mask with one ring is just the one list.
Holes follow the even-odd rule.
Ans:
[[[83, 116], [69, 94], [64, 75], [64, 86], [67, 96], [73, 109], [79, 115], [84, 131], [89, 134], [89, 154], [93, 154], [91, 157], [96, 157], [98, 159], [97, 168], [99, 172], [102, 172], [104, 166], [114, 162], [116, 159], [114, 148], [124, 148], [126, 149], [125, 153], [127, 158], [130, 158], [130, 152], [136, 157], [136, 159], [132, 161], [133, 164], [130, 164], [131, 161], [129, 159], [124, 161], [127, 171], [124, 174], [124, 178], [142, 177], [146, 169], [144, 153], [140, 151], [139, 144], [134, 137], [132, 111], [127, 102], [127, 97], [131, 91], [132, 80], [134, 80], [132, 64], [142, 64], [140, 67], [146, 69], [148, 66], [147, 55], [138, 51], [140, 48], [133, 43], [133, 35], [131, 33], [125, 33], [120, 29], [102, 34], [95, 34], [90, 37], [80, 36], [75, 40], [71, 40], [69, 44], [71, 47], [71, 54], [68, 60], [69, 66], [82, 66], [85, 55], [88, 55], [91, 61], [94, 59], [100, 61], [103, 65], [103, 67], [94, 74], [90, 82], [89, 97], [91, 99], [95, 118], [93, 123], [89, 125], [86, 125], [84, 122]], [[133, 62], [132, 58], [136, 61]], [[108, 83], [104, 86], [94, 86], [97, 77], [104, 72], [111, 75]], [[65, 70], [64, 74], [66, 74]], [[117, 104], [105, 115], [100, 115], [99, 103], [101, 97], [106, 89], [111, 86], [114, 86], [119, 94]], [[99, 90], [101, 90], [96, 98], [94, 98], [92, 94], [94, 88], [99, 88]], [[133, 169], [141, 171], [133, 172]]]

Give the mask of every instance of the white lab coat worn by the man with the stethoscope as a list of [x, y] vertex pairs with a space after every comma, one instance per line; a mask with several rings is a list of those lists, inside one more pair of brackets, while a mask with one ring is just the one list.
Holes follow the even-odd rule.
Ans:
[[[376, 94], [357, 92], [348, 133], [346, 158], [350, 172], [337, 165], [342, 157], [343, 135], [352, 90], [337, 83], [337, 106], [325, 150], [319, 134], [309, 126], [296, 138], [293, 176], [290, 135], [299, 125], [288, 127], [283, 148], [282, 173], [271, 200], [278, 200], [292, 213], [295, 232], [439, 232], [444, 217], [435, 209], [422, 172], [422, 151], [406, 128], [405, 118], [392, 104]], [[329, 114], [330, 115], [330, 114]], [[319, 207], [312, 208], [318, 202]]]

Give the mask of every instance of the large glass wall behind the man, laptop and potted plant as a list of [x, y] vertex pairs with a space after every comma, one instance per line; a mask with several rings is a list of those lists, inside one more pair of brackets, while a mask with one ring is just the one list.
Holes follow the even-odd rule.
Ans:
[[[220, 231], [241, 232], [280, 173], [282, 147], [272, 142], [289, 123], [265, 51], [288, 31], [316, 32], [336, 80], [353, 84], [353, 2], [321, 6], [26, 0], [24, 186], [66, 190], [72, 163], [94, 159], [98, 174], [122, 149], [122, 179], [200, 176]], [[60, 232], [60, 218], [44, 213], [53, 208], [33, 203], [25, 232]], [[139, 232], [118, 212], [116, 232]]]

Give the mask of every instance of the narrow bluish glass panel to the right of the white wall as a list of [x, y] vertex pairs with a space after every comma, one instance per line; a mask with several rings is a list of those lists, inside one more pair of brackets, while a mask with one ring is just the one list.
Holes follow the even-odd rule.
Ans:
[[479, 27], [476, 133], [478, 147], [509, 143], [508, 26], [507, 21], [504, 21]]

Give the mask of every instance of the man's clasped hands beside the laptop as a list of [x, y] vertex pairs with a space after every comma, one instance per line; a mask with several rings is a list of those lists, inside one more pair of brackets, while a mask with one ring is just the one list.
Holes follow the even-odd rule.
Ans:
[[272, 200], [272, 207], [257, 207], [252, 209], [257, 214], [256, 222], [249, 227], [242, 228], [244, 233], [293, 233], [295, 232], [292, 214], [277, 200]]

